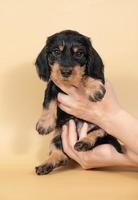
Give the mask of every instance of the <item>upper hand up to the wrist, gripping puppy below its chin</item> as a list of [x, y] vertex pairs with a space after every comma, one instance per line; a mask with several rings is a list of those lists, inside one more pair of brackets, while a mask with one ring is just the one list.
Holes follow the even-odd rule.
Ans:
[[103, 121], [115, 115], [121, 110], [120, 105], [114, 95], [112, 87], [108, 81], [105, 83], [106, 93], [104, 98], [98, 102], [91, 102], [85, 95], [83, 86], [67, 87], [58, 80], [54, 83], [66, 94], [58, 94], [58, 106], [68, 114], [74, 115], [85, 121], [95, 123], [99, 126]]

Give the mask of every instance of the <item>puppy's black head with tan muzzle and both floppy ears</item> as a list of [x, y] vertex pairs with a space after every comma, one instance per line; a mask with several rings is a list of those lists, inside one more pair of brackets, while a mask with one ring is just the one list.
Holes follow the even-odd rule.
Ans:
[[104, 82], [103, 63], [90, 39], [76, 31], [66, 30], [48, 37], [36, 59], [39, 77], [80, 81], [85, 74]]

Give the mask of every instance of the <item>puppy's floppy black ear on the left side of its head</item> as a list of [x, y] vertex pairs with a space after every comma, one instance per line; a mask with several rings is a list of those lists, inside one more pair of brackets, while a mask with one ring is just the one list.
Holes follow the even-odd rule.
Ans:
[[35, 65], [39, 77], [44, 81], [48, 81], [50, 78], [50, 66], [48, 64], [48, 55], [46, 52], [46, 46], [39, 53]]

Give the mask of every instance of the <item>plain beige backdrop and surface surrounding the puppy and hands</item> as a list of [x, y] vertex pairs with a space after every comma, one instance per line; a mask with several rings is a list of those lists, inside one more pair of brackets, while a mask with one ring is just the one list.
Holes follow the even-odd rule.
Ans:
[[63, 29], [92, 38], [120, 103], [138, 116], [137, 0], [0, 0], [0, 199], [138, 199], [138, 173], [69, 167], [38, 177], [51, 136], [41, 137], [45, 83], [33, 65]]

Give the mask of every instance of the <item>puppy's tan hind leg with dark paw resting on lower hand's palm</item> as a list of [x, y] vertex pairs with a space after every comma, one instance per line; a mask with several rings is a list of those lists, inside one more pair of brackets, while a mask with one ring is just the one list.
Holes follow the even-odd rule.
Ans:
[[93, 130], [88, 133], [88, 135], [80, 139], [75, 145], [74, 148], [77, 151], [88, 151], [91, 150], [99, 137], [104, 137], [106, 135], [103, 129]]

